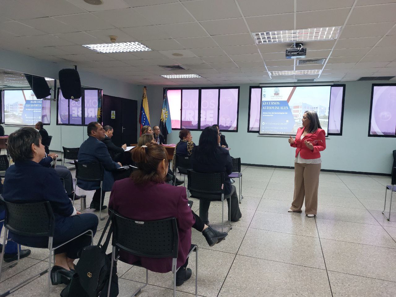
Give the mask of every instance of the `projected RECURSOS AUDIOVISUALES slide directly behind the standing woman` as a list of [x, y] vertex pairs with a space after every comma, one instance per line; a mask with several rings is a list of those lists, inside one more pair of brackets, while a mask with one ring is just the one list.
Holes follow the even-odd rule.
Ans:
[[264, 87], [261, 90], [262, 135], [296, 135], [306, 110], [314, 110], [326, 131], [331, 86]]

